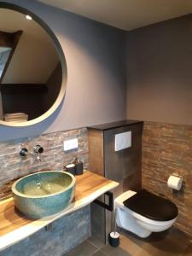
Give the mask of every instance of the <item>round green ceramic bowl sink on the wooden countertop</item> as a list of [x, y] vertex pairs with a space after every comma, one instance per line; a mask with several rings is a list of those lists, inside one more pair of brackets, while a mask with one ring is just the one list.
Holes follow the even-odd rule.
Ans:
[[75, 177], [68, 172], [37, 172], [12, 186], [15, 207], [29, 218], [61, 212], [73, 200]]

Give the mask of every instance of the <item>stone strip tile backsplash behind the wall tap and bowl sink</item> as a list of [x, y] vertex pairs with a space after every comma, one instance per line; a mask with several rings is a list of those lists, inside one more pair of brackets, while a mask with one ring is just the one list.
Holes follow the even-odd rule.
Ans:
[[[63, 141], [77, 137], [79, 148], [64, 152]], [[40, 144], [44, 147], [42, 161], [38, 163], [32, 157], [26, 160], [20, 158], [20, 148], [32, 148]], [[6, 143], [0, 143], [0, 201], [11, 195], [11, 185], [15, 179], [32, 172], [44, 170], [62, 170], [63, 166], [71, 163], [76, 157], [88, 168], [88, 137], [87, 129], [80, 128], [71, 131], [58, 131], [38, 137], [27, 137]]]

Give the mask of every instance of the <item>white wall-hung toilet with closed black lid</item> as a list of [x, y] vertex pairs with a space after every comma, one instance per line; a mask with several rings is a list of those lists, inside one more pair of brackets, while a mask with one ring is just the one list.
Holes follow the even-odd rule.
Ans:
[[116, 223], [120, 228], [140, 237], [169, 229], [176, 221], [178, 210], [172, 201], [145, 189], [128, 190], [115, 199]]

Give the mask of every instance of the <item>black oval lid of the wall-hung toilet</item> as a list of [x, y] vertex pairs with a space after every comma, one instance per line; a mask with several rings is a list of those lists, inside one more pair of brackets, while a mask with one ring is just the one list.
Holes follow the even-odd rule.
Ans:
[[172, 220], [177, 217], [177, 206], [165, 198], [154, 195], [146, 189], [137, 192], [124, 202], [125, 207], [143, 217], [158, 221]]

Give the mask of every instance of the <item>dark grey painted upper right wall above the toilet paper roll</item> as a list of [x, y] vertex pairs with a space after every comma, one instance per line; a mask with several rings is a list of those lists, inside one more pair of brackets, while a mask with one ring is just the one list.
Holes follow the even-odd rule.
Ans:
[[127, 118], [192, 125], [192, 15], [129, 32]]

